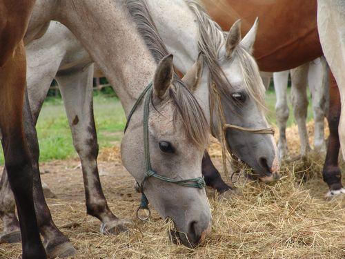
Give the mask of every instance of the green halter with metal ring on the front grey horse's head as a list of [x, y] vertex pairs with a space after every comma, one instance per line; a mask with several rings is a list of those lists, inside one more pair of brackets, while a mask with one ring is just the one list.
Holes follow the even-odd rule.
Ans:
[[[199, 188], [199, 189], [204, 188], [206, 185], [204, 177], [191, 178], [187, 180], [176, 180], [176, 179], [166, 178], [165, 176], [159, 175], [158, 173], [152, 170], [151, 162], [150, 162], [150, 148], [148, 144], [148, 117], [149, 117], [148, 114], [150, 112], [150, 101], [152, 99], [152, 82], [150, 82], [150, 84], [146, 86], [146, 88], [139, 95], [137, 101], [133, 105], [132, 110], [130, 110], [124, 131], [126, 132], [126, 129], [128, 128], [128, 124], [130, 122], [130, 118], [132, 117], [133, 113], [139, 106], [141, 100], [144, 99], [145, 95], [146, 95], [146, 98], [144, 100], [143, 126], [144, 126], [144, 156], [145, 156], [146, 173], [145, 173], [144, 180], [141, 182], [141, 184], [138, 183], [139, 191], [141, 193], [141, 202], [140, 202], [139, 208], [137, 209], [137, 218], [139, 218], [139, 220], [148, 220], [148, 218], [150, 218], [150, 215], [151, 215], [151, 211], [148, 208], [148, 199], [146, 198], [146, 195], [144, 194], [144, 184], [147, 178], [154, 177], [164, 182], [171, 182], [173, 184], [178, 184], [178, 185], [186, 186], [186, 187]], [[147, 210], [148, 215], [146, 217], [141, 218], [139, 216], [140, 210]]]

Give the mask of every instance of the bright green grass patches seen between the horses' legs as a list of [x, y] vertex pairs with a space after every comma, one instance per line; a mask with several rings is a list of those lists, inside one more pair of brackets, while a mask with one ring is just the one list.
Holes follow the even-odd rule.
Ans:
[[[288, 90], [290, 93], [290, 88]], [[270, 124], [275, 125], [275, 92], [273, 90], [268, 90], [266, 104], [270, 109], [268, 121]], [[126, 117], [119, 99], [97, 95], [94, 98], [94, 107], [99, 148], [111, 146], [115, 142], [119, 142], [126, 124]], [[309, 107], [308, 121], [312, 117], [311, 108]], [[293, 112], [290, 108], [288, 126], [293, 123]], [[37, 134], [39, 137], [40, 162], [77, 157], [77, 153], [72, 145], [72, 135], [61, 98], [48, 97], [46, 99], [37, 122]], [[0, 164], [3, 164], [1, 148]]]

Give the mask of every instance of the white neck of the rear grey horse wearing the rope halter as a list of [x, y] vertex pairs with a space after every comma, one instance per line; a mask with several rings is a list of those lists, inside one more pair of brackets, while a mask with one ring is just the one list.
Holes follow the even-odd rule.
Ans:
[[[186, 74], [199, 55], [198, 35], [199, 28], [195, 14], [184, 0], [157, 1], [146, 0], [152, 20], [155, 22], [158, 34], [164, 41], [168, 52], [174, 55], [174, 65], [183, 74]], [[164, 14], [164, 15], [162, 15]], [[204, 71], [195, 96], [202, 104], [204, 114], [210, 121], [209, 70], [204, 66]]]

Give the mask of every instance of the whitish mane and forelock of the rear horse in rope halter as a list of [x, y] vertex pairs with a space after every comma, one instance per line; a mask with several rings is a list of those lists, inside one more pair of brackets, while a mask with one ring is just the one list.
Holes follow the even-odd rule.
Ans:
[[[219, 58], [223, 58], [221, 57], [221, 48], [224, 47], [228, 33], [221, 30], [220, 26], [208, 16], [206, 10], [197, 1], [185, 1], [197, 17], [199, 28], [198, 47], [204, 53], [205, 65], [210, 71], [209, 84], [210, 86], [215, 84], [217, 90], [227, 97], [230, 102], [233, 102], [233, 99], [230, 98], [229, 91], [233, 86], [231, 86], [219, 65]], [[265, 110], [265, 88], [262, 84], [259, 68], [253, 55], [239, 44], [229, 61], [233, 59], [239, 60], [239, 66], [241, 66], [242, 76], [244, 78], [244, 87], [248, 95], [256, 102], [259, 108]]]

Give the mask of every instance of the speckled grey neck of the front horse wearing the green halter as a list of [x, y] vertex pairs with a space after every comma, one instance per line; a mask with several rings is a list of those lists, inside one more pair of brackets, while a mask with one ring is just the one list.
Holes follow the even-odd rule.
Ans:
[[114, 86], [128, 115], [157, 65], [124, 8], [108, 0], [39, 1], [37, 12], [51, 13], [42, 15], [41, 23], [54, 19], [72, 31]]

